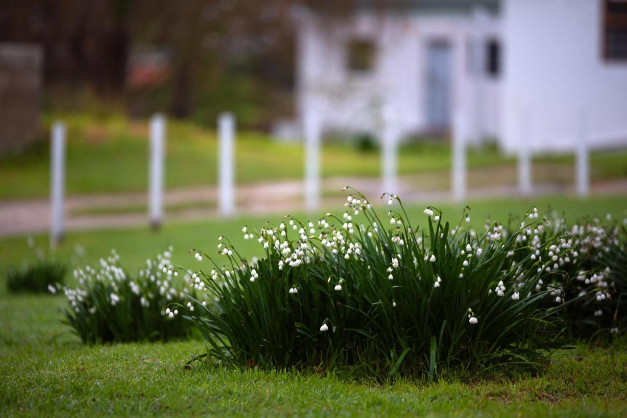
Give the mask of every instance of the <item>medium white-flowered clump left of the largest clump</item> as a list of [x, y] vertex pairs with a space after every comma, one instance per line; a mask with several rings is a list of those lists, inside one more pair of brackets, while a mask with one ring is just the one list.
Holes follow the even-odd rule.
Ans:
[[76, 269], [78, 287], [63, 288], [66, 323], [84, 343], [170, 340], [186, 337], [190, 323], [167, 306], [182, 301], [185, 281], [170, 264], [171, 249], [147, 259], [131, 278], [115, 251], [100, 266]]

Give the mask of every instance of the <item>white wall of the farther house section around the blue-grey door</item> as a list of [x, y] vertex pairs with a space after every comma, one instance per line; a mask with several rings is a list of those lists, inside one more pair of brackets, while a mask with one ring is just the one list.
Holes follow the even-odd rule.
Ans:
[[[497, 36], [498, 21], [481, 15], [482, 36]], [[477, 105], [473, 75], [468, 70], [468, 38], [477, 31], [473, 16], [462, 14], [372, 14], [363, 13], [348, 21], [331, 21], [307, 14], [298, 24], [297, 102], [299, 118], [315, 106], [325, 130], [376, 132], [381, 108], [397, 113], [403, 135], [421, 132], [426, 126], [426, 48], [433, 39], [446, 39], [451, 47], [451, 111], [456, 106]], [[346, 67], [346, 44], [364, 36], [376, 43], [375, 68], [356, 74]], [[495, 135], [500, 128], [500, 86], [483, 80], [481, 100], [482, 134]]]

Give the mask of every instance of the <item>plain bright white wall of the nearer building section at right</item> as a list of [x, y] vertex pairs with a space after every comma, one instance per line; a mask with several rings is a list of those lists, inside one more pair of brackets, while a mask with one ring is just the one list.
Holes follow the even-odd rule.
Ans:
[[592, 147], [627, 145], [627, 63], [604, 61], [601, 6], [503, 1], [503, 149], [517, 149], [521, 112], [529, 115], [533, 150], [574, 149], [582, 103]]

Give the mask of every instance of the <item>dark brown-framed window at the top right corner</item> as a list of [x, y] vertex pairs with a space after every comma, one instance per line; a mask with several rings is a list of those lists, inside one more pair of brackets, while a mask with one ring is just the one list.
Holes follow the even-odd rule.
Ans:
[[627, 60], [627, 1], [603, 3], [603, 56], [606, 60]]

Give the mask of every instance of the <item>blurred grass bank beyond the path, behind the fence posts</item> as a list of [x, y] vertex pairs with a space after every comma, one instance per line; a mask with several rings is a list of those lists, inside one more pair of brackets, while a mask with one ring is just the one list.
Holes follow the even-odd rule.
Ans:
[[[27, 152], [0, 159], [0, 199], [46, 197], [49, 194], [50, 150], [48, 132], [53, 120], [68, 127], [66, 190], [69, 195], [145, 191], [148, 173], [148, 125], [146, 120], [124, 117], [95, 118], [85, 115], [47, 115], [43, 142]], [[217, 144], [213, 130], [187, 122], [169, 120], [167, 125], [166, 187], [211, 186], [216, 184]], [[267, 135], [238, 132], [236, 181], [239, 184], [301, 179], [303, 146], [276, 142]], [[369, 176], [381, 174], [381, 155], [364, 152], [349, 142], [325, 142], [321, 154], [322, 175]], [[446, 140], [410, 142], [399, 150], [400, 175], [440, 173], [447, 179], [450, 147]], [[539, 156], [537, 172], [545, 177], [564, 177], [572, 171], [572, 155]], [[468, 168], [512, 167], [513, 157], [501, 155], [495, 146], [472, 148]], [[542, 169], [544, 167], [544, 169]], [[593, 181], [627, 177], [627, 150], [598, 152], [591, 157]], [[494, 178], [495, 176], [488, 176]], [[566, 175], [570, 181], [572, 175]], [[544, 179], [535, 179], [544, 180]]]

